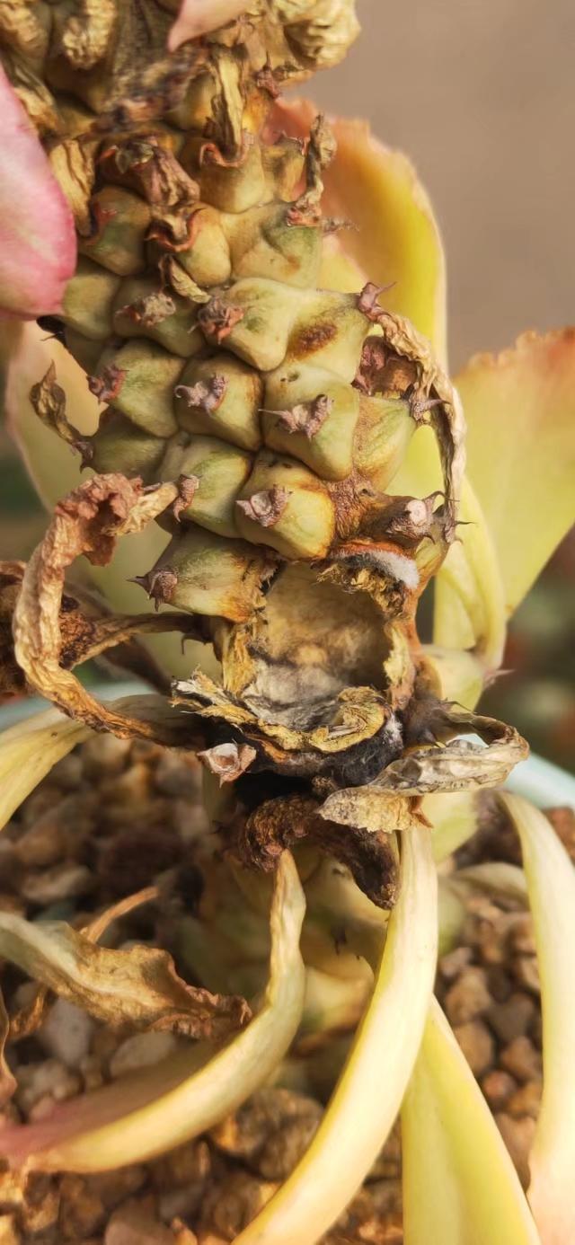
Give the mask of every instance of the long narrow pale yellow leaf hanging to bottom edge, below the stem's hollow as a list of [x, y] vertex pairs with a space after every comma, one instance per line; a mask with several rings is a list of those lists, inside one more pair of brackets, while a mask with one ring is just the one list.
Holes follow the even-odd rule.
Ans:
[[236, 1245], [315, 1245], [367, 1175], [396, 1118], [419, 1046], [437, 952], [429, 833], [402, 838], [402, 884], [371, 1001], [301, 1162]]

